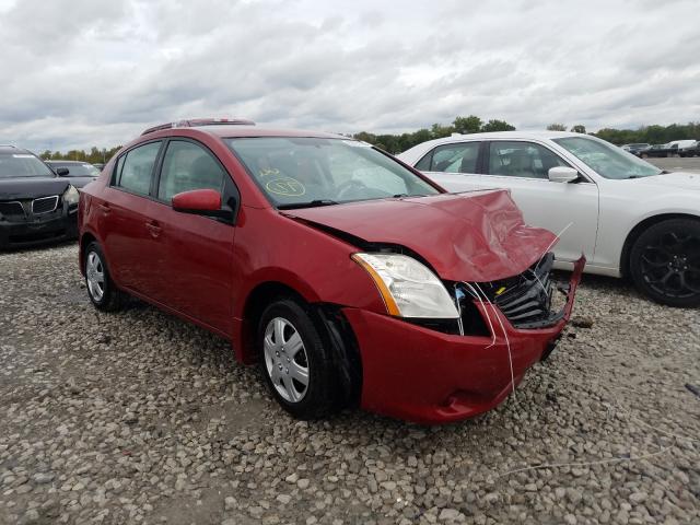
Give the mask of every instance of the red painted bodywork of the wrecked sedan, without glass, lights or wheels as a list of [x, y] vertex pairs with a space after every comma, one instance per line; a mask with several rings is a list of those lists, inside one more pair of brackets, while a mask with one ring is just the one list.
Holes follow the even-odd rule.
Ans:
[[[98, 180], [81, 192], [81, 254], [83, 235], [96, 237], [120, 288], [226, 337], [246, 363], [257, 357], [250, 340], [254, 324], [244, 315], [256, 288], [275, 282], [310, 303], [341, 306], [361, 346], [366, 409], [441, 422], [471, 417], [500, 402], [511, 388], [502, 334], [487, 348], [490, 338], [448, 336], [388, 317], [374, 282], [350, 259], [359, 247], [318, 225], [368, 242], [406, 246], [444, 279], [480, 282], [522, 272], [546, 252], [553, 235], [526, 226], [503, 191], [280, 212], [221, 137], [293, 133], [214, 127], [165, 129], [139, 138], [126, 148], [173, 136], [206, 145], [238, 190], [235, 225], [112, 188], [115, 155]], [[217, 192], [188, 191], [173, 200], [183, 209], [208, 210], [212, 194]], [[574, 273], [574, 284], [579, 278]], [[548, 329], [517, 330], [492, 310], [506, 327], [518, 382], [564, 320]]]

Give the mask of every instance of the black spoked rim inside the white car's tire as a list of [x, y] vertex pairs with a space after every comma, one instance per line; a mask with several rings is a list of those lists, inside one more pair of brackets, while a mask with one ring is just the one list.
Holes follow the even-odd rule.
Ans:
[[660, 235], [644, 247], [642, 276], [664, 295], [684, 299], [700, 293], [700, 237], [679, 231]]

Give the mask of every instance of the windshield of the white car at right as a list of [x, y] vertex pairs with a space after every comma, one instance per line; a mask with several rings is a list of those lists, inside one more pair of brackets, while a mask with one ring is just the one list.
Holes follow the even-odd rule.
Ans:
[[584, 137], [552, 140], [605, 178], [638, 178], [662, 173], [656, 166], [604, 141]]

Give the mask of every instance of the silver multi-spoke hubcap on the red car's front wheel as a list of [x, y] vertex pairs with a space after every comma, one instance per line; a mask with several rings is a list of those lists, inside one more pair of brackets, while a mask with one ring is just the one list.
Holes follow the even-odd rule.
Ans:
[[299, 402], [308, 388], [308, 359], [296, 328], [275, 317], [265, 328], [265, 368], [275, 389], [289, 402]]

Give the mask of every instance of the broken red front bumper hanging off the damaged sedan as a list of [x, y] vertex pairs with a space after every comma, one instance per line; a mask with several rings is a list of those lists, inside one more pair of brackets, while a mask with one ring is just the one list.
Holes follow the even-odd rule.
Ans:
[[475, 305], [492, 319], [494, 336], [489, 337], [448, 335], [345, 308], [362, 358], [362, 408], [434, 424], [471, 418], [498, 406], [527, 370], [551, 352], [571, 315], [584, 265], [582, 258], [574, 267], [562, 316], [545, 328], [515, 328], [488, 303]]

